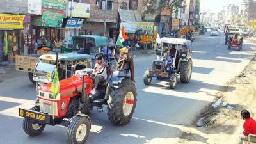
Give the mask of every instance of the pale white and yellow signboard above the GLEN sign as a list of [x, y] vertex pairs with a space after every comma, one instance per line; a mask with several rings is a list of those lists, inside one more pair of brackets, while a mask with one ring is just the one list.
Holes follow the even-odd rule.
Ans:
[[[68, 2], [68, 17], [71, 16], [71, 3], [72, 2]], [[90, 18], [90, 1], [89, 3], [73, 2], [72, 17]]]

